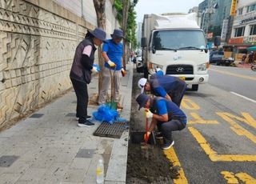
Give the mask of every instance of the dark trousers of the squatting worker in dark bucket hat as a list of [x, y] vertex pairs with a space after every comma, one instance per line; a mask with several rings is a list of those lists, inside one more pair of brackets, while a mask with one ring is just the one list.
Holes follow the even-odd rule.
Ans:
[[169, 122], [158, 122], [158, 130], [161, 130], [165, 143], [173, 142], [172, 131], [182, 130], [185, 127], [186, 124], [179, 119], [172, 119]]

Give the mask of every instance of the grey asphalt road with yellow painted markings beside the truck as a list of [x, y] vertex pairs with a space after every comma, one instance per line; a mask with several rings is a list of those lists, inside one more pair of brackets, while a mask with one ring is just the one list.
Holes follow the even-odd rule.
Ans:
[[182, 101], [190, 122], [166, 151], [182, 168], [174, 183], [256, 183], [256, 103], [230, 93], [255, 100], [248, 92], [256, 91], [255, 74], [219, 66], [210, 74], [210, 83]]

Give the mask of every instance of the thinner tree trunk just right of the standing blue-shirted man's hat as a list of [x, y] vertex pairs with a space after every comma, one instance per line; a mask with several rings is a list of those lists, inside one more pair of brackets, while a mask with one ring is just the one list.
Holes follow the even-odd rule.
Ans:
[[[126, 38], [126, 30], [127, 30], [127, 20], [128, 20], [128, 10], [130, 6], [130, 0], [122, 0], [122, 30], [124, 37]], [[126, 52], [126, 39], [123, 40], [123, 64], [124, 68], [126, 69], [126, 57], [127, 52]]]

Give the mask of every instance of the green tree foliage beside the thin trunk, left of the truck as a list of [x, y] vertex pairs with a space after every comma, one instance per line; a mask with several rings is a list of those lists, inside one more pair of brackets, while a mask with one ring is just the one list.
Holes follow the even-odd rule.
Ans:
[[[126, 30], [126, 41], [130, 42], [132, 48], [136, 48], [137, 39], [136, 39], [136, 12], [134, 7], [136, 6], [138, 0], [133, 0], [129, 6], [129, 13], [127, 19], [127, 30]], [[117, 18], [120, 25], [122, 25], [122, 0], [114, 0], [114, 7], [118, 12]]]

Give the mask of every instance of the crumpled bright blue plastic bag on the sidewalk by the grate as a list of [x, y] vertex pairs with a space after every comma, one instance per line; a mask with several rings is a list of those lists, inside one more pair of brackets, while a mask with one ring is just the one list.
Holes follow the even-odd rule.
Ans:
[[93, 113], [96, 120], [100, 122], [109, 122], [113, 124], [118, 119], [119, 114], [117, 110], [110, 109], [110, 106], [102, 105], [98, 107], [98, 111]]

